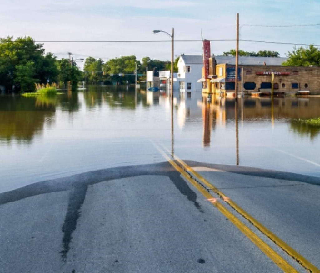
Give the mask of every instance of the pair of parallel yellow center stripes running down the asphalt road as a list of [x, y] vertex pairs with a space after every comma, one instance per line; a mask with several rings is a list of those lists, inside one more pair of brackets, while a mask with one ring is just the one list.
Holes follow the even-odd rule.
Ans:
[[[299, 272], [293, 268], [286, 260], [284, 260], [277, 252], [275, 252], [267, 243], [262, 241], [255, 233], [253, 233], [247, 226], [245, 226], [236, 216], [234, 216], [228, 209], [225, 208], [219, 202], [223, 200], [232, 209], [238, 212], [242, 217], [247, 219], [253, 226], [255, 226], [260, 232], [266, 235], [270, 240], [272, 240], [276, 245], [278, 245], [282, 250], [284, 250], [288, 255], [290, 255], [294, 260], [300, 263], [305, 269], [310, 272], [320, 272], [316, 266], [311, 264], [307, 259], [301, 256], [298, 252], [292, 249], [288, 244], [278, 238], [265, 226], [259, 223], [255, 218], [253, 218], [246, 211], [241, 209], [235, 202], [233, 202], [229, 197], [223, 194], [219, 189], [214, 187], [212, 183], [209, 183], [204, 177], [198, 174], [180, 158], [175, 156], [175, 160], [169, 158], [165, 152], [156, 145], [157, 149], [162, 153], [162, 155], [168, 160], [168, 162], [183, 175], [202, 195], [211, 202], [226, 218], [228, 218], [241, 232], [243, 232], [257, 247], [260, 248], [279, 268], [284, 272]], [[179, 163], [179, 164], [178, 164]], [[180, 165], [180, 166], [179, 166]], [[215, 198], [211, 193], [214, 192], [220, 198]]]

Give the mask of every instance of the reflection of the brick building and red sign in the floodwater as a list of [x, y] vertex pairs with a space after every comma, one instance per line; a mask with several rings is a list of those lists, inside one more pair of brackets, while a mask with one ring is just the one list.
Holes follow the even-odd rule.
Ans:
[[[226, 126], [228, 121], [236, 121], [236, 134], [238, 131], [238, 113], [241, 113], [242, 124], [244, 121], [270, 120], [272, 128], [276, 120], [282, 119], [309, 119], [320, 117], [320, 98], [241, 98], [237, 103], [234, 98], [212, 98], [207, 103], [204, 97], [202, 105], [202, 117], [204, 124], [203, 144], [210, 146], [212, 123]], [[237, 109], [235, 111], [235, 109]], [[292, 132], [301, 136], [315, 137], [319, 130], [306, 125], [300, 125], [291, 121]], [[237, 141], [238, 143], [238, 141]], [[237, 160], [238, 162], [238, 160]]]

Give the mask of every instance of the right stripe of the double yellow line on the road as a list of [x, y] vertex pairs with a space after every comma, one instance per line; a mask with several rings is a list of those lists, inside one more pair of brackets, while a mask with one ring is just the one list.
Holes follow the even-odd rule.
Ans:
[[[176, 157], [177, 158], [177, 157]], [[249, 213], [245, 210], [241, 209], [235, 202], [233, 202], [229, 197], [227, 197], [223, 192], [218, 190], [216, 187], [212, 185], [212, 183], [208, 182], [203, 176], [193, 170], [190, 166], [188, 166], [185, 162], [183, 162], [180, 158], [177, 158], [177, 161], [192, 173], [197, 179], [199, 179], [202, 183], [204, 183], [208, 188], [210, 188], [213, 192], [218, 194], [230, 207], [235, 209], [240, 215], [242, 215], [245, 219], [247, 219], [253, 226], [259, 229], [264, 235], [266, 235], [270, 240], [276, 243], [280, 248], [282, 248], [285, 252], [287, 252], [294, 260], [300, 263], [304, 268], [308, 269], [311, 272], [320, 272], [320, 270], [310, 263], [306, 258], [304, 258], [300, 253], [295, 251], [292, 247], [290, 247], [287, 243], [282, 241], [279, 237], [277, 237], [274, 233], [268, 230], [265, 226], [263, 226], [258, 220], [253, 218]]]

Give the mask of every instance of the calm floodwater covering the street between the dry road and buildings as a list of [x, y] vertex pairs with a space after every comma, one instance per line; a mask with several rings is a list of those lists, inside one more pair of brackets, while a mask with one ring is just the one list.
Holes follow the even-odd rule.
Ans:
[[[183, 160], [320, 176], [320, 98], [171, 99], [89, 86], [56, 98], [0, 96], [0, 192], [113, 166]], [[237, 121], [237, 122], [236, 122]], [[173, 139], [172, 139], [173, 132]]]

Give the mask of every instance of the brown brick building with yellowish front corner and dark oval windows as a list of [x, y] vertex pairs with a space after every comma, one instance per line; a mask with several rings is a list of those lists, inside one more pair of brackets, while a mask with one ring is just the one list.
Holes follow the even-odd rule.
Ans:
[[[282, 66], [286, 58], [239, 56], [238, 92], [251, 94], [271, 90], [271, 74], [275, 74], [274, 91], [297, 93], [308, 90], [320, 94], [320, 67]], [[209, 94], [235, 92], [235, 57], [212, 56], [209, 78], [203, 81], [203, 92]]]

